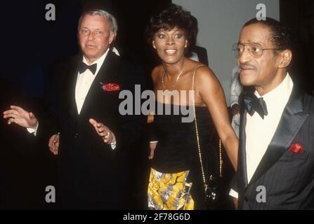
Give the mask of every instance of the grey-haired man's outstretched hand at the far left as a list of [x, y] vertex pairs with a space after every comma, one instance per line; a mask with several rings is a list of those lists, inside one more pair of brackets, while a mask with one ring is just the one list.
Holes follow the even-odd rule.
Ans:
[[4, 111], [4, 118], [8, 118], [8, 125], [15, 123], [21, 127], [36, 129], [38, 120], [34, 113], [25, 111], [19, 106], [10, 106], [10, 110]]

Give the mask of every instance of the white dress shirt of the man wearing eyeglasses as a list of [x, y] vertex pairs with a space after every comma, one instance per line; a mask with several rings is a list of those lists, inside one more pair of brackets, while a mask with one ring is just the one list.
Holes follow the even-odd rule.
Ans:
[[[273, 139], [277, 126], [280, 122], [284, 107], [287, 105], [289, 97], [292, 93], [294, 84], [287, 73], [282, 83], [274, 90], [263, 95], [263, 100], [266, 102], [268, 115], [264, 119], [259, 116], [259, 113], [254, 113], [250, 116], [247, 113], [247, 125], [245, 126], [246, 142], [245, 150], [247, 155], [247, 181], [251, 178], [259, 166], [263, 155], [266, 153], [270, 141]], [[256, 97], [261, 97], [255, 91]], [[235, 191], [230, 190], [230, 195], [236, 197]]]

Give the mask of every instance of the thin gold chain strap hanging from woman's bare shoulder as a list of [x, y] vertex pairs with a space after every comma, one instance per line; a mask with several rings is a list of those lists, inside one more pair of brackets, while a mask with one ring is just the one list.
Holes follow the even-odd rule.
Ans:
[[[196, 71], [199, 67], [206, 66], [204, 64], [200, 64], [195, 67], [193, 76], [192, 76], [192, 91], [193, 91], [193, 97], [192, 97], [192, 103], [193, 103], [193, 112], [194, 112], [194, 119], [195, 119], [195, 132], [196, 132], [196, 139], [197, 139], [197, 148], [198, 148], [198, 154], [199, 154], [199, 162], [201, 164], [202, 168], [202, 178], [203, 178], [203, 183], [204, 183], [204, 188], [205, 192], [207, 190], [207, 183], [205, 179], [205, 174], [204, 174], [204, 167], [203, 167], [203, 160], [202, 160], [202, 152], [201, 152], [201, 146], [199, 144], [199, 132], [198, 132], [198, 127], [197, 127], [197, 118], [196, 118], [196, 111], [195, 111], [195, 74]], [[219, 139], [219, 176], [222, 176], [222, 165], [223, 165], [223, 160], [221, 156], [221, 140]], [[212, 176], [210, 176], [210, 179]]]

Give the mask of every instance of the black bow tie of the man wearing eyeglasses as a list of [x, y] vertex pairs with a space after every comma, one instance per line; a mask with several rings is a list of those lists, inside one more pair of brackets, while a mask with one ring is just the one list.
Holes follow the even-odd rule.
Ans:
[[264, 116], [268, 115], [266, 102], [263, 100], [263, 97], [258, 98], [253, 92], [247, 91], [243, 92], [242, 101], [250, 116], [253, 116], [255, 111], [259, 113], [263, 119]]

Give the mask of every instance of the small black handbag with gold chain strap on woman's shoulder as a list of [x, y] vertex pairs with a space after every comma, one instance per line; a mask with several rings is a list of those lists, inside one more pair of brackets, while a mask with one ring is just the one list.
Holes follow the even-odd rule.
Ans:
[[[199, 65], [195, 68], [193, 76], [192, 76], [192, 91], [194, 91], [194, 85], [195, 85], [195, 73], [196, 70], [200, 67], [204, 66], [204, 64]], [[193, 92], [194, 94], [194, 92]], [[208, 176], [208, 179], [205, 178], [204, 174], [204, 167], [203, 167], [203, 162], [202, 162], [202, 153], [201, 153], [201, 146], [199, 144], [199, 133], [197, 129], [197, 119], [196, 119], [196, 112], [195, 112], [195, 97], [193, 99], [193, 110], [194, 110], [194, 119], [195, 119], [195, 132], [196, 132], [196, 139], [197, 139], [197, 148], [198, 148], [198, 153], [199, 153], [199, 162], [201, 164], [202, 168], [202, 178], [204, 182], [204, 190], [205, 190], [205, 205], [208, 210], [214, 210], [218, 208], [219, 204], [219, 180], [222, 177], [222, 165], [223, 165], [223, 160], [222, 160], [222, 147], [221, 147], [221, 140], [219, 140], [219, 176], [214, 176], [213, 174]]]

